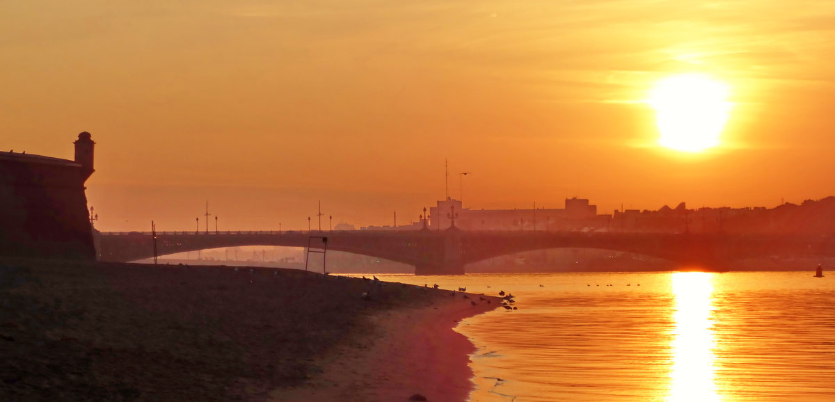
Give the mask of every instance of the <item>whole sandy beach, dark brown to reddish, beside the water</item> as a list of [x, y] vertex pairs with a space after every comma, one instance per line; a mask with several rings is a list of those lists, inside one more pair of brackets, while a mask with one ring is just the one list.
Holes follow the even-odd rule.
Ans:
[[0, 400], [465, 400], [473, 347], [452, 328], [498, 307], [487, 299], [294, 270], [0, 260]]

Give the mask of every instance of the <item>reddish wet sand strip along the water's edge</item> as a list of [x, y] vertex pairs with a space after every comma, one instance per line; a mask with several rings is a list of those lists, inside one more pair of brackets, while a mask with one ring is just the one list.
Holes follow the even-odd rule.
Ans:
[[370, 317], [368, 324], [379, 330], [376, 336], [352, 339], [326, 358], [320, 376], [294, 389], [276, 390], [272, 400], [406, 401], [413, 394], [438, 402], [467, 400], [475, 386], [469, 355], [476, 348], [454, 328], [462, 319], [498, 307], [498, 298], [473, 306], [461, 293], [442, 291], [450, 294], [448, 300]]

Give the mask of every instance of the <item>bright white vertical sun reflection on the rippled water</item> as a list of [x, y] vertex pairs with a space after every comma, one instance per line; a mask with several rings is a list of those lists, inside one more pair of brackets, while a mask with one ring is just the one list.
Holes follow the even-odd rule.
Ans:
[[668, 401], [721, 400], [714, 383], [712, 275], [701, 272], [672, 275], [676, 329]]

